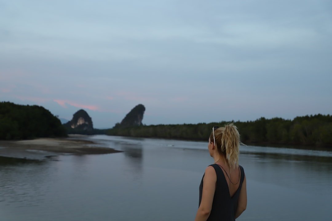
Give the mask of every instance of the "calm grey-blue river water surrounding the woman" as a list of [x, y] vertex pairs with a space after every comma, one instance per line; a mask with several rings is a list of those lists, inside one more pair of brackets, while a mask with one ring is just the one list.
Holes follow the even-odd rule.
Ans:
[[[194, 220], [207, 142], [93, 136], [122, 153], [0, 165], [1, 221]], [[332, 220], [332, 152], [242, 146], [237, 220]]]

